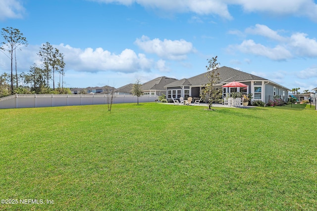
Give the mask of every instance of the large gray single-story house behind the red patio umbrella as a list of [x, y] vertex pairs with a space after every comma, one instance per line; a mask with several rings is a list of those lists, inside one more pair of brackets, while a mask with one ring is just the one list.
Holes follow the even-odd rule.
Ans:
[[[252, 100], [262, 100], [265, 103], [267, 103], [272, 96], [288, 97], [289, 88], [262, 77], [225, 66], [220, 67], [217, 72], [219, 73], [220, 82], [216, 84], [216, 87], [222, 88], [223, 97], [226, 93], [231, 92], [252, 93]], [[189, 96], [198, 98], [203, 85], [208, 83], [206, 74], [207, 73], [203, 73], [189, 79], [181, 79], [165, 85], [167, 99], [171, 99], [172, 97], [179, 99], [181, 96], [184, 97], [184, 99], [187, 99]], [[241, 82], [248, 85], [248, 87], [222, 87], [222, 85], [233, 81]]]

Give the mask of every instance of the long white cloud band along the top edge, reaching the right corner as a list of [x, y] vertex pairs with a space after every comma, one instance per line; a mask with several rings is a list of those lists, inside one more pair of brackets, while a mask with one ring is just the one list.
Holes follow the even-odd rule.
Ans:
[[194, 12], [199, 15], [215, 14], [232, 19], [229, 5], [239, 5], [245, 12], [261, 12], [273, 15], [305, 16], [317, 21], [317, 4], [314, 0], [92, 0], [104, 3], [131, 5], [138, 3], [146, 8], [169, 12]]

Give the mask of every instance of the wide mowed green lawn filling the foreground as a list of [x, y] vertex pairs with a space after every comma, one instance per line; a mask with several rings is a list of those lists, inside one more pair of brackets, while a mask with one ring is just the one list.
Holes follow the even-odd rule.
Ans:
[[[0, 110], [0, 210], [317, 210], [317, 111]], [[54, 204], [46, 204], [51, 200]]]

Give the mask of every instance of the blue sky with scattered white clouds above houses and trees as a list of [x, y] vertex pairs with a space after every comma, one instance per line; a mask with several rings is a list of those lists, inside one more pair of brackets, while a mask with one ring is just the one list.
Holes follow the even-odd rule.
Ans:
[[[67, 87], [190, 78], [214, 56], [290, 89], [317, 87], [314, 0], [0, 0], [5, 27], [29, 43], [18, 71], [40, 64], [50, 42], [65, 56]], [[0, 73], [9, 71], [0, 53]]]

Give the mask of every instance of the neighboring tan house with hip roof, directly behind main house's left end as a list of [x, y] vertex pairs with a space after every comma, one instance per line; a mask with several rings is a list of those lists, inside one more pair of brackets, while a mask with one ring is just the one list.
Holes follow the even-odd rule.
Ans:
[[159, 78], [153, 79], [147, 83], [143, 84], [144, 95], [166, 95], [166, 88], [164, 87], [167, 84], [178, 81], [177, 79], [168, 78], [166, 76], [161, 76]]

